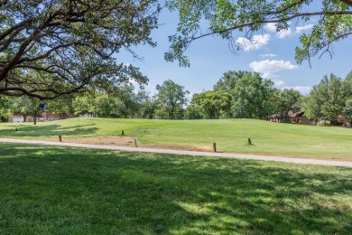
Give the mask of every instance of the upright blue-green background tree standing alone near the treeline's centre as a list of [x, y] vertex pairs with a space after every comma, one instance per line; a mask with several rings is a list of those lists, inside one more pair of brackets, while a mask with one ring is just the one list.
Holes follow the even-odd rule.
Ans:
[[158, 90], [156, 97], [162, 109], [166, 110], [167, 118], [182, 118], [184, 106], [188, 102], [186, 95], [190, 94], [190, 91], [172, 80], [165, 80], [162, 85], [157, 85], [156, 89]]

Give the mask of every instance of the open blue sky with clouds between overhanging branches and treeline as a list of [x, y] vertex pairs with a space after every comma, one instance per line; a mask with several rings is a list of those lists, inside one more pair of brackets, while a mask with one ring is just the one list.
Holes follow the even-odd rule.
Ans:
[[[238, 54], [230, 52], [228, 42], [218, 36], [208, 36], [192, 42], [186, 55], [190, 68], [179, 67], [178, 62], [166, 62], [164, 52], [169, 50], [168, 36], [176, 33], [178, 16], [164, 9], [160, 15], [160, 27], [153, 31], [152, 37], [157, 47], [138, 46], [135, 52], [143, 61], [134, 61], [127, 53], [118, 55], [118, 60], [133, 64], [149, 79], [147, 91], [155, 93], [155, 86], [164, 80], [173, 80], [193, 93], [213, 89], [226, 71], [257, 71], [265, 79], [275, 82], [279, 89], [293, 88], [307, 94], [324, 75], [334, 73], [344, 79], [352, 71], [352, 38], [333, 44], [333, 57], [324, 54], [303, 61], [294, 61], [294, 49], [299, 45], [301, 33], [309, 32], [310, 23], [291, 24], [288, 31], [276, 33], [273, 24], [265, 26], [264, 33], [255, 33], [255, 47], [246, 43], [241, 33], [236, 33], [237, 42], [244, 44]], [[310, 68], [311, 65], [311, 68]]]

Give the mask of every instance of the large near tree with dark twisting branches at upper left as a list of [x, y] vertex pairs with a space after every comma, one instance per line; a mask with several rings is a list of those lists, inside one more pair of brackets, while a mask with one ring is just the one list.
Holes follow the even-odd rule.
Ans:
[[0, 94], [55, 99], [87, 86], [111, 87], [130, 78], [132, 65], [114, 54], [155, 46], [157, 0], [0, 1]]

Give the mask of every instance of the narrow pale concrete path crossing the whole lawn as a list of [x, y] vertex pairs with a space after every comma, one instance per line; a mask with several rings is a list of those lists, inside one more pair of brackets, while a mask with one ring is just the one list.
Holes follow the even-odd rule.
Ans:
[[210, 152], [182, 151], [182, 150], [127, 147], [127, 146], [98, 146], [98, 145], [87, 145], [87, 144], [58, 143], [58, 142], [49, 142], [49, 141], [8, 139], [8, 138], [0, 138], [0, 143], [30, 144], [30, 145], [41, 145], [41, 146], [75, 146], [75, 147], [86, 147], [86, 148], [95, 148], [95, 149], [133, 151], [133, 152], [157, 153], [157, 154], [206, 155], [206, 156], [228, 157], [228, 158], [238, 158], [238, 159], [285, 162], [285, 163], [292, 163], [292, 164], [321, 164], [321, 165], [352, 167], [352, 162], [347, 162], [347, 161], [329, 161], [329, 160], [293, 158], [293, 157], [273, 156], [273, 155], [243, 155], [243, 154], [210, 153]]

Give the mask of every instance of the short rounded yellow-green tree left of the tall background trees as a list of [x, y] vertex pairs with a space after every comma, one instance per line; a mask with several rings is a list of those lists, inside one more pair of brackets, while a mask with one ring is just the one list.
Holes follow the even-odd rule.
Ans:
[[194, 94], [190, 104], [198, 107], [205, 118], [218, 119], [221, 114], [228, 113], [231, 107], [231, 96], [226, 91], [208, 90]]

